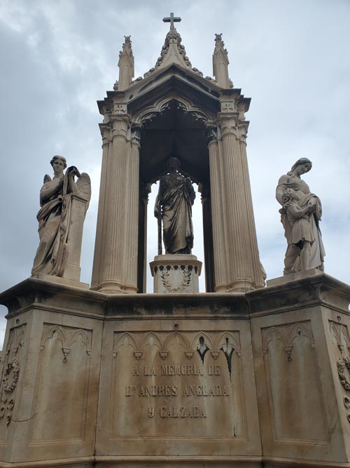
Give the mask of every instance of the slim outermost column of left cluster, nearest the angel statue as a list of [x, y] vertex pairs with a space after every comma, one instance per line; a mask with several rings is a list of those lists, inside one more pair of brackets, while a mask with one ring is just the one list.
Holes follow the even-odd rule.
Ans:
[[109, 166], [109, 153], [111, 148], [111, 125], [110, 123], [100, 123], [99, 128], [102, 135], [102, 168], [101, 182], [99, 185], [99, 210], [97, 213], [96, 241], [94, 243], [94, 263], [92, 267], [91, 289], [98, 290], [101, 283], [102, 264], [102, 233], [106, 225], [106, 187], [107, 168]]

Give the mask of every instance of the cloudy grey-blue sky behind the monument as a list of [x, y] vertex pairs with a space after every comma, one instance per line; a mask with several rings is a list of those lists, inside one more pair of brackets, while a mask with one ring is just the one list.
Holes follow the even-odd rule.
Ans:
[[[132, 36], [135, 78], [155, 65], [169, 30], [162, 18], [172, 11], [204, 76], [212, 76], [214, 36], [223, 33], [230, 77], [252, 98], [247, 153], [268, 278], [281, 276], [286, 250], [276, 182], [305, 156], [313, 168], [304, 180], [323, 202], [325, 271], [350, 282], [350, 1], [0, 0], [0, 290], [30, 275], [38, 193], [54, 154], [92, 178], [81, 262], [90, 283], [102, 158], [96, 101], [118, 79], [124, 35]], [[196, 204], [202, 259], [200, 196]], [[149, 261], [157, 244], [150, 222]]]

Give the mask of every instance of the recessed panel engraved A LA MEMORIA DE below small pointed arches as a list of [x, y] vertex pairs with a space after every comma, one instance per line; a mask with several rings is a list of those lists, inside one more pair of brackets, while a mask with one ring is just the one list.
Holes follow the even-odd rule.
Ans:
[[115, 332], [109, 440], [160, 436], [169, 420], [171, 436], [245, 437], [241, 357], [238, 332]]

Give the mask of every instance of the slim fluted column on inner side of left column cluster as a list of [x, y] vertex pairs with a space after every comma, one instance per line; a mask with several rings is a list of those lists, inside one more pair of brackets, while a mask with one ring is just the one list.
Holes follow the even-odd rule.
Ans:
[[137, 250], [139, 222], [139, 151], [141, 126], [132, 127], [130, 156], [127, 158], [125, 190], [125, 236], [124, 236], [124, 288], [125, 293], [137, 293]]

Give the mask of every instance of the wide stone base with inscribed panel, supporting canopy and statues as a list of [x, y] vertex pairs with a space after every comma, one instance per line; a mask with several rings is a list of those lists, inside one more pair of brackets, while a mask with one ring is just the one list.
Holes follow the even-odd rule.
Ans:
[[0, 468], [350, 467], [350, 287], [330, 276], [166, 295], [28, 279], [0, 302]]

